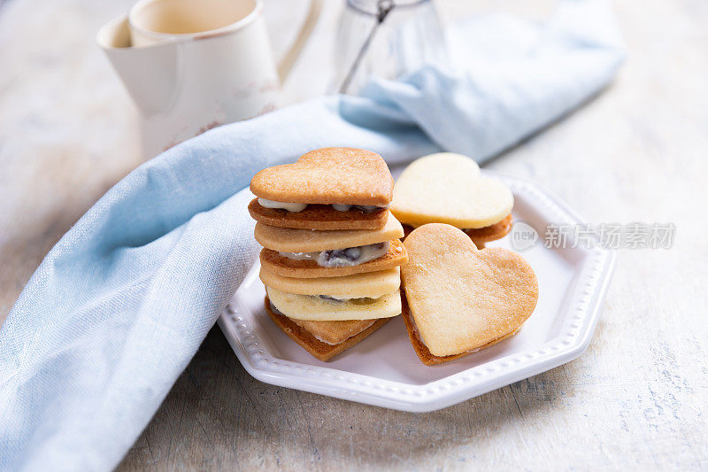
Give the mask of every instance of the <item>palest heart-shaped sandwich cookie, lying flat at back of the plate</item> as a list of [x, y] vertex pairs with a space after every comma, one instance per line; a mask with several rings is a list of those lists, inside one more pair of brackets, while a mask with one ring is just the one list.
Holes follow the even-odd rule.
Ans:
[[417, 159], [398, 177], [389, 210], [412, 227], [447, 223], [484, 228], [512, 212], [512, 191], [480, 175], [469, 158], [440, 152]]

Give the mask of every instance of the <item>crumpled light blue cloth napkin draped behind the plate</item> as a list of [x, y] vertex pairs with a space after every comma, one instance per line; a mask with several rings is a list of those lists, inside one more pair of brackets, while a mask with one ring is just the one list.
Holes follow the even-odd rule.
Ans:
[[[457, 30], [466, 72], [424, 68], [214, 129], [140, 166], [50, 251], [0, 331], [0, 469], [116, 466], [187, 366], [258, 247], [259, 169], [325, 146], [389, 163], [439, 148], [483, 161], [592, 97], [623, 57], [606, 6], [543, 27]], [[422, 131], [424, 132], [421, 132]]]

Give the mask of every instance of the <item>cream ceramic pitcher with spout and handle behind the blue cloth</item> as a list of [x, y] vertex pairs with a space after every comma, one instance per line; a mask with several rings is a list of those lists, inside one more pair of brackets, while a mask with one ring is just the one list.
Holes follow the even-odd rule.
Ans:
[[321, 6], [277, 67], [261, 0], [141, 0], [104, 25], [96, 41], [141, 112], [145, 157], [273, 110]]

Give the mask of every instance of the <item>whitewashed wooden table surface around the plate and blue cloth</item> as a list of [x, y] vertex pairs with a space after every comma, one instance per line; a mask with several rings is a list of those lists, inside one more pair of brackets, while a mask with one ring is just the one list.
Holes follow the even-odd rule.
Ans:
[[[141, 163], [135, 111], [93, 43], [130, 3], [0, 1], [0, 322], [50, 247]], [[450, 19], [491, 4], [439, 7]], [[528, 4], [504, 8], [540, 17], [552, 2]], [[303, 6], [268, 3], [277, 50]], [[327, 89], [339, 7], [327, 4], [289, 102]], [[215, 328], [120, 468], [708, 468], [708, 4], [614, 7], [628, 48], [616, 81], [489, 164], [588, 221], [676, 225], [672, 249], [618, 252], [587, 352], [405, 414], [260, 383]]]

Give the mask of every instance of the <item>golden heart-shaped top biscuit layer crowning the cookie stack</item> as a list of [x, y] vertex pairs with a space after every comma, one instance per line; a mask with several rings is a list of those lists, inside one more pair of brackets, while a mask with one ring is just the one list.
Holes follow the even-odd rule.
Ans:
[[250, 191], [276, 202], [389, 206], [393, 178], [375, 152], [324, 148], [293, 164], [263, 169], [250, 181]]

